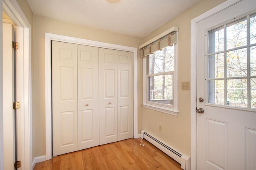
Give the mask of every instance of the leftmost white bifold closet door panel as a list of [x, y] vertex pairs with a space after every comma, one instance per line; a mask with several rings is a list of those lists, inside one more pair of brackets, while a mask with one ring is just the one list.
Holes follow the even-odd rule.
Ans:
[[53, 156], [78, 150], [77, 45], [52, 41]]

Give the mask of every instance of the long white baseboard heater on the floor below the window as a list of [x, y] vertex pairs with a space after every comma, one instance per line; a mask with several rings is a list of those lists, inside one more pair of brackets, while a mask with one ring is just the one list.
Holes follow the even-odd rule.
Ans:
[[148, 142], [152, 143], [155, 147], [162, 150], [168, 156], [176, 160], [179, 164], [181, 164], [181, 168], [184, 170], [190, 170], [190, 157], [185, 154], [179, 152], [178, 150], [169, 147], [159, 139], [155, 138], [150, 133], [142, 130], [141, 131], [141, 139], [146, 139]]

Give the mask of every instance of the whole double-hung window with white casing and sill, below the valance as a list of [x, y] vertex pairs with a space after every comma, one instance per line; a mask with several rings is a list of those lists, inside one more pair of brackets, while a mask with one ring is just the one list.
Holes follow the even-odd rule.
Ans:
[[176, 70], [176, 41], [143, 58], [144, 107], [178, 115]]

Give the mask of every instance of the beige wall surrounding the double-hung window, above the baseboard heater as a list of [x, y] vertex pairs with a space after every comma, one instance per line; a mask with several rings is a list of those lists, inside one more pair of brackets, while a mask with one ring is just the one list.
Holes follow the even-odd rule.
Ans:
[[[142, 128], [168, 145], [190, 156], [190, 90], [182, 91], [181, 82], [190, 82], [190, 21], [225, 0], [202, 0], [146, 37], [143, 42], [178, 27], [178, 117], [143, 108]], [[162, 132], [158, 131], [159, 124]]]

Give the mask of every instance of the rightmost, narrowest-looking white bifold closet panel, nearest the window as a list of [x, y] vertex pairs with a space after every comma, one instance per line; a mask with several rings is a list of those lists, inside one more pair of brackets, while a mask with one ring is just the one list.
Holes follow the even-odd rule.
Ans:
[[133, 137], [133, 53], [117, 51], [118, 141]]

